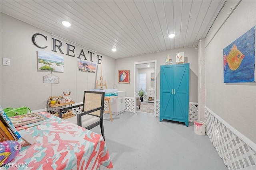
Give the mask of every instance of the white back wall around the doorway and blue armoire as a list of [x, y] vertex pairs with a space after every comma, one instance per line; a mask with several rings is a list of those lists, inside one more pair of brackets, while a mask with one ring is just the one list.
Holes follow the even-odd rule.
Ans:
[[172, 59], [172, 63], [176, 63], [176, 53], [185, 53], [185, 63], [190, 63], [190, 102], [198, 101], [198, 49], [195, 47], [162, 51], [146, 55], [122, 58], [116, 60], [116, 83], [118, 83], [118, 70], [130, 70], [130, 84], [118, 84], [118, 90], [126, 90], [127, 97], [133, 97], [134, 84], [134, 63], [142, 61], [157, 61], [157, 71], [155, 73], [156, 81], [156, 99], [159, 99], [160, 92], [160, 65], [165, 65], [168, 55]]

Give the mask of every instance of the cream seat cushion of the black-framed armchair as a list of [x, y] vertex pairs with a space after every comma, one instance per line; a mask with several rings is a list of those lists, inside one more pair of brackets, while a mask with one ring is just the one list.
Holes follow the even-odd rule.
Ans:
[[[77, 115], [66, 119], [66, 121], [69, 121], [69, 122], [77, 125]], [[88, 126], [92, 125], [93, 123], [96, 123], [97, 121], [100, 121], [100, 117], [92, 116], [92, 115], [83, 115], [82, 116], [82, 127], [84, 127], [84, 128], [88, 127]]]

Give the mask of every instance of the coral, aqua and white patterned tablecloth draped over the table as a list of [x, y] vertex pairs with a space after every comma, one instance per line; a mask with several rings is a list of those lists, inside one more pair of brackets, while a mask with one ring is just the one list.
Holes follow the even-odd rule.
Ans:
[[[41, 123], [20, 130], [34, 137], [36, 143], [22, 147], [10, 164], [23, 164], [27, 165], [27, 169], [40, 170], [98, 170], [100, 165], [113, 167], [102, 135], [48, 112], [38, 114], [46, 117], [46, 120], [16, 127], [18, 130]], [[16, 169], [19, 168], [8, 168]]]

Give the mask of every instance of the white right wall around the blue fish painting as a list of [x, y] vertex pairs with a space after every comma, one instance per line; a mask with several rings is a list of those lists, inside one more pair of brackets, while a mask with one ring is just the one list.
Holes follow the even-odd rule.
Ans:
[[227, 1], [205, 39], [206, 106], [254, 143], [256, 83], [223, 82], [223, 49], [256, 25], [255, 9], [256, 1]]

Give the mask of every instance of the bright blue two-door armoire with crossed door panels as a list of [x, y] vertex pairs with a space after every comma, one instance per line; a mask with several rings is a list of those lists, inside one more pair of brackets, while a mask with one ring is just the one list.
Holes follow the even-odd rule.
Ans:
[[160, 69], [160, 121], [188, 126], [189, 63], [162, 65]]

